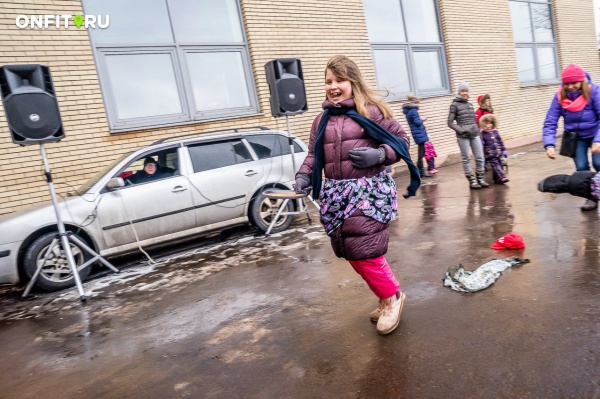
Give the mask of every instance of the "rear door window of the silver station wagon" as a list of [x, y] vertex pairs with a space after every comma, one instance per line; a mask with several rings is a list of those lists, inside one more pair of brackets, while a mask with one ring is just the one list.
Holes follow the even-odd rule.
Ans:
[[252, 161], [241, 140], [221, 141], [188, 147], [194, 173]]

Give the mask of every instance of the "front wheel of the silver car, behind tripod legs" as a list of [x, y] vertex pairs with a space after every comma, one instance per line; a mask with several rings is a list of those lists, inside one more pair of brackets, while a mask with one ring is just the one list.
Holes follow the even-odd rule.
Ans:
[[[25, 268], [25, 273], [27, 273], [27, 276], [31, 278], [35, 274], [38, 265], [44, 261], [46, 253], [49, 250], [52, 251], [35, 282], [38, 287], [46, 291], [58, 291], [75, 285], [75, 279], [73, 278], [73, 273], [71, 272], [69, 262], [67, 261], [66, 254], [62, 249], [60, 240], [56, 243], [56, 245], [54, 245], [53, 248], [50, 248], [52, 240], [54, 237], [56, 237], [56, 235], [56, 232], [47, 233], [36, 239], [27, 248], [24, 257], [23, 265]], [[77, 235], [75, 236], [81, 241], [84, 241], [81, 237]], [[75, 259], [75, 264], [80, 266], [89, 258], [89, 255], [78, 245], [75, 245], [72, 242], [70, 244], [71, 252], [73, 253], [73, 258]], [[79, 271], [79, 277], [81, 278], [81, 281], [85, 280], [90, 274], [91, 268], [91, 265], [89, 265], [85, 269]]]

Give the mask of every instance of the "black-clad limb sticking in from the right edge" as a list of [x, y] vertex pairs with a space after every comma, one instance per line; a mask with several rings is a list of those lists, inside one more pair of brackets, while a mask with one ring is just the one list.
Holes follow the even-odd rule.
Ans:
[[543, 193], [569, 193], [591, 201], [600, 200], [600, 172], [589, 170], [575, 172], [572, 175], [553, 175], [538, 183]]

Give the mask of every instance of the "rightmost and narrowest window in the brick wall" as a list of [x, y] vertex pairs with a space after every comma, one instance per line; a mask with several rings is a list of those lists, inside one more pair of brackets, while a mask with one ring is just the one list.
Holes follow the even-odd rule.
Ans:
[[519, 81], [556, 83], [558, 62], [550, 0], [511, 0]]

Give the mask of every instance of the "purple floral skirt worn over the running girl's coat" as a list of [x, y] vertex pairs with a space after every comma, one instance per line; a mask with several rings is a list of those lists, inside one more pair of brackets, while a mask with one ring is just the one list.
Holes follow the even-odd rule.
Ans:
[[325, 179], [320, 197], [321, 223], [328, 236], [357, 209], [381, 223], [391, 222], [398, 211], [396, 184], [385, 171], [360, 179]]

